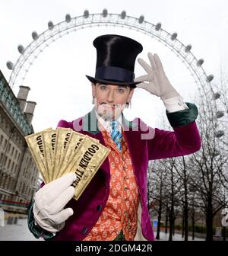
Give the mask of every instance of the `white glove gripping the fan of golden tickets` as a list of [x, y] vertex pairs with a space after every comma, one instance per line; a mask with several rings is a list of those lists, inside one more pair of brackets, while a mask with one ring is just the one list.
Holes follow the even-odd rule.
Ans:
[[74, 196], [76, 174], [65, 174], [61, 178], [44, 185], [35, 195], [33, 214], [36, 223], [46, 231], [57, 232], [65, 226], [65, 220], [73, 215], [73, 210], [63, 210]]

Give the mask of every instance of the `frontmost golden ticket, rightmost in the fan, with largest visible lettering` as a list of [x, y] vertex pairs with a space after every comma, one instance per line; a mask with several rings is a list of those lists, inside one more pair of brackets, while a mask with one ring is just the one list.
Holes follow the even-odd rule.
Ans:
[[75, 188], [74, 199], [76, 200], [81, 196], [110, 152], [110, 149], [89, 138], [85, 139], [81, 145], [81, 156], [78, 158], [77, 164], [74, 165], [74, 169], [72, 169], [76, 174], [76, 180], [73, 183]]

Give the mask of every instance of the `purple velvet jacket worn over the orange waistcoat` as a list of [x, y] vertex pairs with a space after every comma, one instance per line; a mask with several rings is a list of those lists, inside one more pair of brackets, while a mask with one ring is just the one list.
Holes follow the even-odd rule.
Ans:
[[[147, 167], [148, 161], [159, 158], [172, 158], [198, 151], [201, 138], [195, 123], [197, 107], [188, 104], [188, 110], [167, 113], [172, 132], [153, 129], [140, 119], [132, 122], [123, 117], [123, 127], [131, 155], [136, 182], [141, 200], [141, 232], [147, 240], [154, 240], [154, 232], [147, 208]], [[79, 133], [99, 139], [105, 146], [102, 133], [97, 128], [95, 109], [77, 120], [60, 120], [58, 127], [71, 128]], [[74, 215], [65, 222], [65, 227], [57, 232], [54, 240], [82, 240], [99, 219], [109, 197], [110, 170], [109, 160], [101, 165], [97, 174], [84, 190], [78, 201], [71, 200], [68, 205]]]

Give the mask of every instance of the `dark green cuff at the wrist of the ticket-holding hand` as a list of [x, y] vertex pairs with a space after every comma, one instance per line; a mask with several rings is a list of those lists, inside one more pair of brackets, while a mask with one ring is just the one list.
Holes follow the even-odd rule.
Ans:
[[52, 232], [48, 232], [44, 229], [41, 229], [40, 226], [35, 224], [35, 219], [33, 216], [33, 204], [34, 202], [30, 204], [27, 213], [27, 224], [28, 228], [30, 229], [30, 232], [33, 233], [35, 238], [43, 237], [44, 240], [52, 240], [52, 238], [55, 237], [55, 235], [53, 235]]

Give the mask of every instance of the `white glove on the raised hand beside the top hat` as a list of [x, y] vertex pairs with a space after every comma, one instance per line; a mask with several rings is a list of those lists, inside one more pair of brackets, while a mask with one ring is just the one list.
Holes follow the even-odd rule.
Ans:
[[138, 63], [144, 68], [147, 75], [141, 75], [138, 78], [135, 78], [135, 82], [144, 81], [136, 86], [149, 91], [151, 94], [160, 97], [162, 100], [180, 96], [166, 77], [159, 56], [156, 53], [154, 56], [152, 53], [148, 53], [147, 55], [151, 66], [143, 59], [138, 58]]

